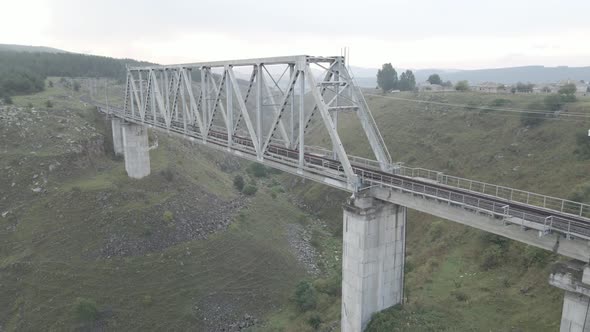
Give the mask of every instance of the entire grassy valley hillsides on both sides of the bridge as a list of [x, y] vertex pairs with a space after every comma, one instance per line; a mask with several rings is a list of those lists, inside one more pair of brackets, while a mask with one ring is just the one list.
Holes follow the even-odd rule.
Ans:
[[[338, 330], [347, 194], [156, 132], [152, 175], [129, 179], [109, 123], [71, 86], [0, 106], [3, 330]], [[369, 96], [396, 161], [590, 200], [588, 121], [530, 126], [475, 108], [543, 102], [533, 95], [401, 97], [467, 107]], [[589, 112], [590, 99], [567, 107]], [[339, 130], [369, 155], [355, 121], [341, 117]], [[563, 293], [547, 278], [559, 259], [412, 211], [406, 304], [369, 331], [554, 331]]]

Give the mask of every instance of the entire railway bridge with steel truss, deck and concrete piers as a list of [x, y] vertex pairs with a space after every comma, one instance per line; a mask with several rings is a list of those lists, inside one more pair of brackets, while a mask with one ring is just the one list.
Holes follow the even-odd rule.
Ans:
[[[590, 331], [590, 206], [392, 161], [342, 56], [307, 55], [127, 69], [112, 121], [130, 177], [149, 175], [147, 128], [348, 191], [343, 211], [342, 331], [403, 302], [408, 208], [551, 250], [578, 262], [561, 331]], [[374, 159], [347, 154], [338, 118], [357, 121]], [[327, 147], [309, 144], [323, 135]], [[588, 321], [588, 322], [587, 322]]]

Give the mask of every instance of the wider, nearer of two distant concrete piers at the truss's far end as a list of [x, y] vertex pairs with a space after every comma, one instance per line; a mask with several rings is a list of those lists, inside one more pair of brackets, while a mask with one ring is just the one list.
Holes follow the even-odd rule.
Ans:
[[132, 123], [125, 124], [122, 128], [127, 175], [135, 179], [148, 176], [150, 174], [150, 152], [147, 128]]

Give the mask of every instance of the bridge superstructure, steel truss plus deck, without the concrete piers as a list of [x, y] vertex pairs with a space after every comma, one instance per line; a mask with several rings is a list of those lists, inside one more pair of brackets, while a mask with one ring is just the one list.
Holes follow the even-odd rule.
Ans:
[[[281, 78], [287, 79], [275, 79], [271, 66], [282, 66]], [[240, 69], [243, 74], [244, 68], [250, 77], [247, 81], [239, 80], [235, 73]], [[318, 73], [321, 80], [315, 78]], [[589, 205], [392, 163], [343, 57], [292, 56], [129, 68], [125, 107], [99, 109], [353, 193], [387, 188], [537, 229], [541, 234], [557, 232], [590, 240]], [[343, 111], [356, 113], [375, 160], [346, 154], [336, 126], [338, 113]], [[305, 145], [305, 134], [316, 114], [319, 118], [314, 125], [327, 132], [332, 150]]]

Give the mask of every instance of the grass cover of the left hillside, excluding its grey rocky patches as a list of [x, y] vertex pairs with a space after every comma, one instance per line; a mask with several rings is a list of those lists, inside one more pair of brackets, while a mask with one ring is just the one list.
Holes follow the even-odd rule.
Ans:
[[[221, 171], [218, 164], [222, 160], [205, 149], [179, 145], [162, 135], [159, 147], [151, 151], [153, 175], [139, 181], [127, 178], [123, 162], [108, 155], [93, 157], [87, 167], [67, 164], [71, 156], [61, 149], [61, 143], [52, 143], [44, 135], [55, 128], [70, 133], [90, 122], [108, 140], [108, 128], [93, 110], [82, 108], [78, 95], [58, 87], [17, 97], [15, 103], [42, 107], [48, 98], [55, 104], [49, 115], [31, 123], [40, 136], [31, 136], [31, 142], [8, 137], [5, 142], [20, 140], [22, 144], [7, 144], [0, 160], [2, 168], [21, 162], [14, 190], [22, 190], [14, 197], [28, 205], [0, 218], [0, 325], [4, 329], [89, 327], [92, 324], [75, 319], [77, 297], [95, 300], [101, 310], [96, 324], [117, 330], [198, 330], [207, 326], [205, 315], [215, 316], [217, 306], [264, 318], [266, 312], [287, 301], [305, 272], [289, 250], [284, 227], [307, 223], [307, 219], [286, 194], [271, 198], [266, 186], [270, 180], [259, 180], [258, 193], [225, 232], [142, 255], [97, 257], [113, 235], [141, 240], [174, 228], [164, 221], [154, 226], [146, 220], [154, 207], [162, 213], [160, 206], [165, 203], [186, 199], [182, 196], [192, 193], [185, 190], [187, 186], [215, 194], [219, 202], [234, 199], [233, 175]], [[80, 116], [63, 128], [60, 117], [52, 112], [66, 108]], [[15, 134], [2, 130], [7, 136]], [[47, 144], [33, 159], [23, 146], [37, 140]], [[32, 193], [25, 181], [42, 172], [39, 163], [46, 167], [54, 160], [69, 170], [48, 173], [47, 192]], [[162, 170], [172, 170], [174, 180], [162, 176]], [[0, 210], [5, 211], [19, 202], [6, 199], [13, 197], [13, 179], [1, 180], [4, 195], [0, 196], [5, 199]], [[204, 213], [207, 202], [199, 203], [200, 199], [194, 197], [195, 203], [185, 207], [195, 214]], [[16, 225], [14, 230], [11, 225]]]

